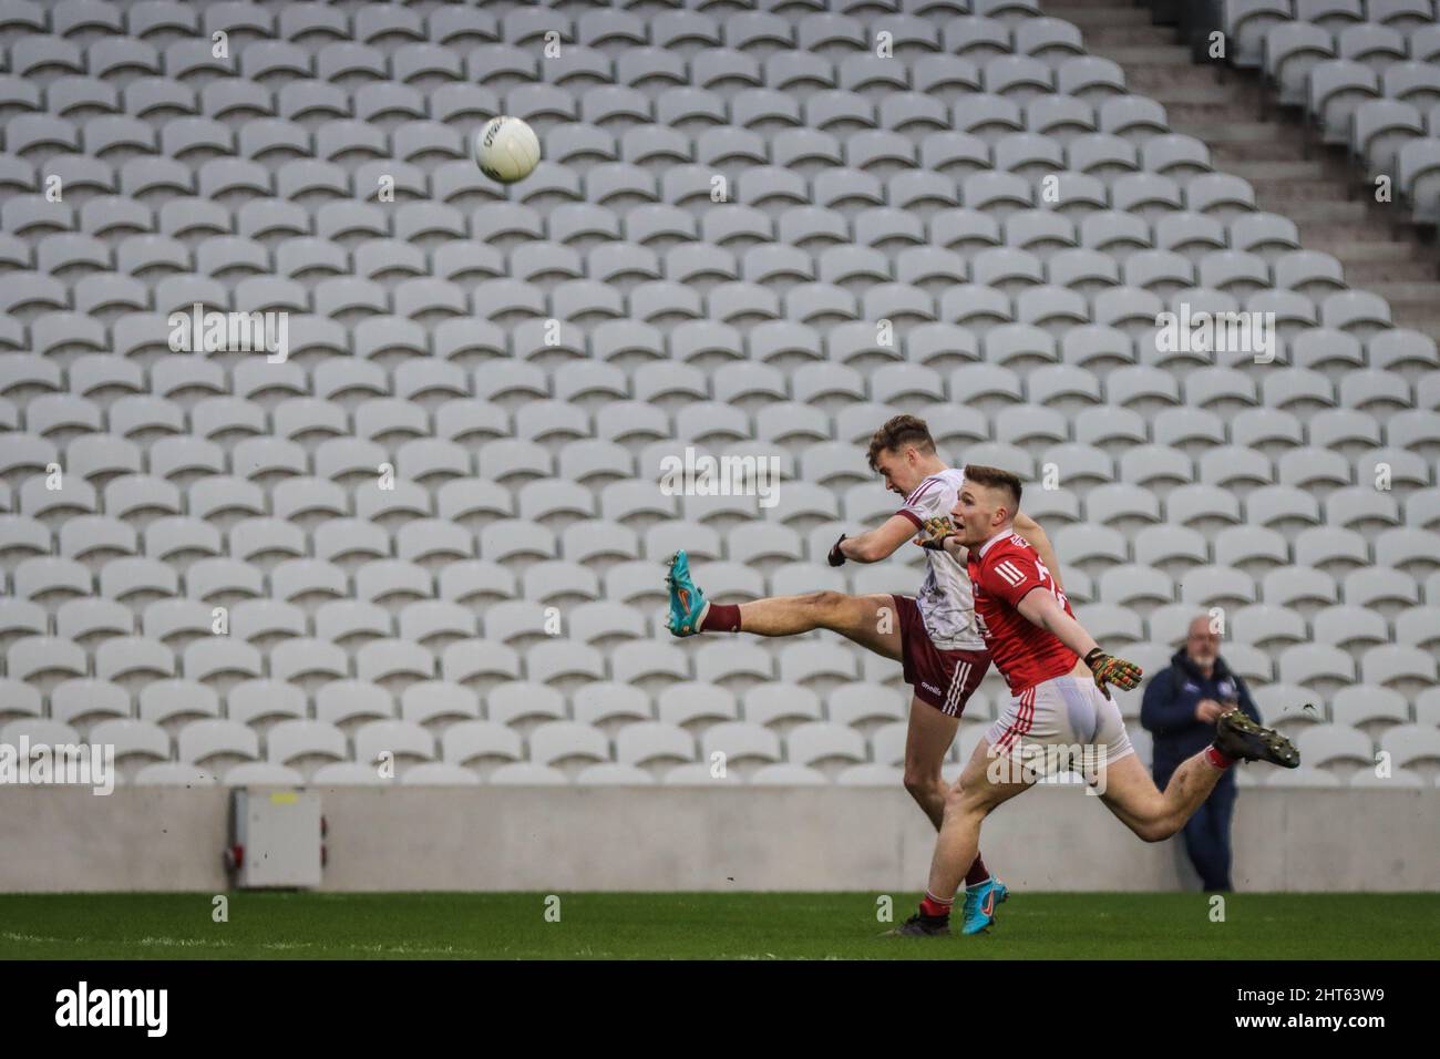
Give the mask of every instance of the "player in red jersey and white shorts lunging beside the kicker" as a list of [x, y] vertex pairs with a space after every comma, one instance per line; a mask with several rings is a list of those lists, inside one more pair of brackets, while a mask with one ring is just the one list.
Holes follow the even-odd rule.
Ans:
[[952, 511], [958, 529], [926, 542], [956, 558], [966, 553], [975, 620], [1009, 684], [1011, 703], [946, 795], [924, 901], [896, 934], [949, 934], [952, 895], [975, 857], [982, 821], [1054, 771], [1057, 761], [1081, 771], [1106, 807], [1145, 841], [1184, 827], [1236, 761], [1300, 764], [1289, 739], [1233, 710], [1217, 722], [1215, 742], [1175, 769], [1159, 791], [1136, 759], [1106, 687], [1133, 689], [1140, 670], [1100, 650], [1035, 549], [1014, 532], [1020, 494], [1020, 478], [1009, 471], [966, 467]]

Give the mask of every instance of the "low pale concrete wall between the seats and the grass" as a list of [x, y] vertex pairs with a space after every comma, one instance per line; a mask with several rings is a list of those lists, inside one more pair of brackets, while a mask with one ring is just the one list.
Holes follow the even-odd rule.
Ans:
[[[900, 790], [330, 788], [327, 890], [876, 890], [924, 883], [933, 831]], [[1440, 890], [1440, 791], [1250, 788], [1246, 890]], [[226, 888], [223, 790], [0, 788], [0, 892]], [[989, 821], [985, 859], [1031, 890], [1194, 885], [1080, 788]]]

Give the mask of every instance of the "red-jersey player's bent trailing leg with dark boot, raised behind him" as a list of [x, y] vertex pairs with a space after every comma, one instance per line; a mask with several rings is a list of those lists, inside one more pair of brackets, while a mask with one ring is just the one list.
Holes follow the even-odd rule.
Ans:
[[1215, 722], [1215, 742], [1181, 762], [1164, 792], [1130, 754], [1106, 767], [1100, 801], [1145, 841], [1164, 841], [1185, 826], [1237, 761], [1297, 768], [1300, 752], [1273, 728], [1231, 710]]

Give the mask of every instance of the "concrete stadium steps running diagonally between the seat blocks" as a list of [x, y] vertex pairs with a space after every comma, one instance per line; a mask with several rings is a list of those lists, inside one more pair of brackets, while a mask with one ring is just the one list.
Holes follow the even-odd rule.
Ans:
[[1270, 108], [1261, 120], [1259, 76], [1197, 65], [1174, 43], [1174, 29], [1128, 27], [1148, 13], [1113, 0], [1051, 0], [1047, 9], [1077, 24], [1093, 55], [1119, 63], [1132, 91], [1164, 104], [1175, 133], [1204, 141], [1217, 169], [1248, 180], [1260, 209], [1295, 220], [1305, 249], [1338, 258], [1349, 284], [1390, 303], [1397, 326], [1440, 340], [1433, 243], [1365, 195], [1344, 150], [1309, 143], [1299, 115]]

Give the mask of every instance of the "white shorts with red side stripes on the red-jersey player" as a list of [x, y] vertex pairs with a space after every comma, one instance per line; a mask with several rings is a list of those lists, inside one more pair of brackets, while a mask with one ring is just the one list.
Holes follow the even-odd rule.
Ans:
[[1024, 764], [1025, 779], [1076, 772], [1093, 782], [1100, 768], [1135, 754], [1115, 700], [1068, 676], [1011, 696], [985, 738], [992, 754]]

